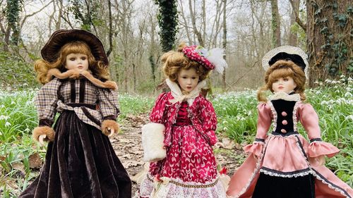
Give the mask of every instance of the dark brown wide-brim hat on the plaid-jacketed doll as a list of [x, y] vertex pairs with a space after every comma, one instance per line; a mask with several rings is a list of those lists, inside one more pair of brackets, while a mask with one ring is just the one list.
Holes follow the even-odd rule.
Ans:
[[53, 63], [59, 57], [59, 51], [64, 44], [78, 40], [88, 44], [96, 61], [103, 61], [106, 66], [109, 65], [102, 42], [86, 30], [56, 30], [40, 51], [42, 58], [49, 63]]

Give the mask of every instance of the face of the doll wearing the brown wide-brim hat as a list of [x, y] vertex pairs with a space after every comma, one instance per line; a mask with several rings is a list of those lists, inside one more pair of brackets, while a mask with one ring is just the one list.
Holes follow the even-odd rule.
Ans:
[[88, 70], [88, 56], [80, 53], [71, 53], [66, 56], [65, 68], [68, 70]]

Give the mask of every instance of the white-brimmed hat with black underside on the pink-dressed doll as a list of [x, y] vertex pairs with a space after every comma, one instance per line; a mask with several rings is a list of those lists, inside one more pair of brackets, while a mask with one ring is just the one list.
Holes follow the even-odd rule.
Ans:
[[279, 60], [294, 62], [304, 71], [306, 78], [308, 78], [308, 55], [299, 47], [283, 45], [268, 51], [263, 56], [263, 69], [268, 70], [273, 63]]

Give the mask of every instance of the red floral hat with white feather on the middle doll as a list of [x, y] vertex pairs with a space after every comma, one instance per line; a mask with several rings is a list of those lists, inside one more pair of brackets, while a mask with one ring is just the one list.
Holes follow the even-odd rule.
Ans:
[[218, 73], [223, 73], [223, 70], [228, 66], [223, 58], [225, 54], [224, 49], [214, 48], [208, 51], [201, 46], [192, 45], [184, 47], [183, 53], [192, 61], [200, 63], [209, 70], [215, 69]]

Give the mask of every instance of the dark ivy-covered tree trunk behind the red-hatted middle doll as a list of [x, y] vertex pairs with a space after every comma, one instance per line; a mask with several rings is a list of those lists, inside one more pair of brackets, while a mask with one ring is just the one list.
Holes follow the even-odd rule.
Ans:
[[178, 11], [176, 0], [155, 0], [160, 6], [158, 23], [160, 25], [160, 43], [163, 51], [172, 50], [177, 35]]

